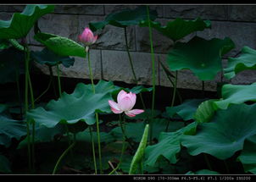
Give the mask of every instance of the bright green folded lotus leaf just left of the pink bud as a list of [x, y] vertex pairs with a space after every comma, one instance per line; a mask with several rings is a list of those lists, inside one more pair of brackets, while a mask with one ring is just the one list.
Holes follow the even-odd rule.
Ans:
[[86, 58], [85, 47], [63, 36], [37, 33], [34, 38], [59, 56], [76, 56]]

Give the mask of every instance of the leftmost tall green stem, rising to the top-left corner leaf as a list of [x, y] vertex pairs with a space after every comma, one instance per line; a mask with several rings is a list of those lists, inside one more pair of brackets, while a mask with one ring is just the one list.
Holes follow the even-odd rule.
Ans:
[[28, 146], [28, 163], [29, 169], [31, 171], [31, 134], [30, 134], [30, 124], [29, 120], [27, 119], [27, 111], [29, 110], [29, 53], [28, 47], [25, 43], [25, 119], [26, 119], [26, 133], [27, 133], [27, 146]]

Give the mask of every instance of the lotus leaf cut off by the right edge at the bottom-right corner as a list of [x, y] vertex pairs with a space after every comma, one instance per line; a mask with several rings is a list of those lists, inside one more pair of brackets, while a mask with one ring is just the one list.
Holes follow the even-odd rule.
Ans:
[[237, 160], [243, 165], [244, 171], [246, 173], [250, 172], [256, 174], [256, 135], [248, 138], [244, 142], [244, 147], [242, 153]]

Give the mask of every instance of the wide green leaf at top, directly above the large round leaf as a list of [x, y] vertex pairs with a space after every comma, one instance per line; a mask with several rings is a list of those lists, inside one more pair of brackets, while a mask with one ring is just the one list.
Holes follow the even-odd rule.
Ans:
[[[209, 20], [202, 20], [200, 18], [194, 20], [184, 20], [177, 18], [171, 20], [167, 25], [162, 26], [159, 22], [150, 21], [151, 27], [158, 30], [164, 36], [169, 37], [173, 41], [178, 41], [181, 38], [191, 34], [195, 31], [202, 31], [211, 27]], [[140, 24], [142, 27], [148, 26], [148, 21], [142, 21]]]

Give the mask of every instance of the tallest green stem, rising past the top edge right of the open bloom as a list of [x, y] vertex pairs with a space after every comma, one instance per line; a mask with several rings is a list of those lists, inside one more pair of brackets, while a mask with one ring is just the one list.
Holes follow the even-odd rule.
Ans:
[[148, 20], [148, 30], [149, 30], [149, 41], [150, 41], [150, 52], [151, 52], [151, 59], [152, 59], [152, 84], [153, 84], [153, 97], [152, 97], [152, 112], [151, 112], [151, 120], [149, 122], [149, 141], [152, 144], [152, 137], [153, 137], [153, 109], [154, 109], [154, 98], [155, 98], [155, 61], [154, 61], [154, 53], [153, 53], [153, 39], [152, 39], [152, 28], [149, 19], [149, 8], [147, 5], [147, 20]]

